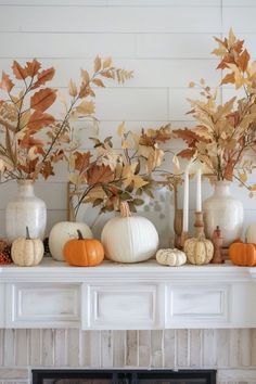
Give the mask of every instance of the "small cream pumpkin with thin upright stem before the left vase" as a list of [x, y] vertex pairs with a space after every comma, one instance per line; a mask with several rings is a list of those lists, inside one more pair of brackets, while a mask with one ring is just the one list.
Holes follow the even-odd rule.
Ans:
[[26, 227], [26, 238], [18, 238], [12, 243], [11, 256], [20, 267], [37, 266], [43, 257], [43, 243], [40, 239], [30, 239]]

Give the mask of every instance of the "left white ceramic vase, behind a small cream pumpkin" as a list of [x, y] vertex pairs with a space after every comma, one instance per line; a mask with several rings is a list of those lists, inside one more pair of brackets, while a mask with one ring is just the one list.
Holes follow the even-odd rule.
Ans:
[[5, 210], [8, 241], [26, 235], [26, 227], [30, 238], [43, 240], [47, 226], [46, 203], [35, 196], [33, 180], [17, 180], [16, 199], [8, 203]]

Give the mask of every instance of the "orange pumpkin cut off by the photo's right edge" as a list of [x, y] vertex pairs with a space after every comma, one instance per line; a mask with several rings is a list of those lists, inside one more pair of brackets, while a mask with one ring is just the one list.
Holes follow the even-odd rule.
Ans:
[[236, 266], [254, 267], [256, 266], [256, 244], [232, 243], [229, 247], [229, 257]]

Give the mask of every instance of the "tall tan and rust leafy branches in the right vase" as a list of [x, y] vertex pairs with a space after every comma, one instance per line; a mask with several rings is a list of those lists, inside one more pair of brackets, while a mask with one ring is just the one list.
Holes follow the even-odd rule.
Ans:
[[[232, 29], [228, 38], [215, 40], [218, 48], [213, 53], [220, 57], [217, 69], [228, 71], [220, 86], [232, 84], [244, 95], [219, 104], [219, 88], [212, 90], [201, 79], [204, 100], [189, 100], [192, 107], [189, 113], [197, 121], [196, 126], [175, 130], [176, 137], [188, 145], [179, 156], [196, 155], [215, 180], [235, 178], [246, 185], [248, 174], [256, 167], [256, 62], [249, 60], [244, 41], [236, 39]], [[248, 189], [252, 195], [256, 184]]]

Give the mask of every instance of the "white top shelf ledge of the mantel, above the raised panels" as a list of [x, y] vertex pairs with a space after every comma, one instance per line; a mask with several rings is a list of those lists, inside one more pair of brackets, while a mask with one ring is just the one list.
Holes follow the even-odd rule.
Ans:
[[[119, 264], [104, 260], [97, 267], [72, 267], [66, 263], [44, 257], [35, 267], [17, 267], [15, 265], [0, 268], [1, 281], [86, 281], [91, 279], [111, 279], [112, 281], [146, 280], [163, 282], [163, 279], [182, 281], [252, 281], [256, 280], [256, 268], [236, 267], [231, 261], [221, 265], [168, 267], [148, 260], [138, 264]], [[199, 281], [200, 279], [200, 281]]]

